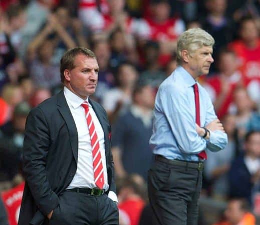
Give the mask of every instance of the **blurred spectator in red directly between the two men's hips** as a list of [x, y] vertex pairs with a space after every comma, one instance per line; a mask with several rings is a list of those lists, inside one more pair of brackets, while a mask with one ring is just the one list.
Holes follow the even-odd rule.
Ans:
[[122, 178], [121, 181], [121, 185], [117, 185], [119, 224], [138, 225], [145, 206], [142, 198], [145, 188], [144, 180], [141, 176], [132, 174]]

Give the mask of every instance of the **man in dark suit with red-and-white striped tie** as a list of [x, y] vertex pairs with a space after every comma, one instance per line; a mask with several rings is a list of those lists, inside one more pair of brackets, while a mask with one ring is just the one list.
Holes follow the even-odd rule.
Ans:
[[98, 70], [91, 50], [68, 50], [64, 89], [30, 112], [19, 225], [118, 224], [111, 128], [104, 108], [89, 98]]

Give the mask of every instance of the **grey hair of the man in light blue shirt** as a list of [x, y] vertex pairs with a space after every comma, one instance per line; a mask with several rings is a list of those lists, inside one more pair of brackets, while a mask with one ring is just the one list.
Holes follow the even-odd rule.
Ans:
[[182, 63], [181, 51], [186, 49], [189, 54], [203, 46], [213, 46], [214, 38], [201, 28], [191, 28], [183, 32], [177, 41], [177, 64]]

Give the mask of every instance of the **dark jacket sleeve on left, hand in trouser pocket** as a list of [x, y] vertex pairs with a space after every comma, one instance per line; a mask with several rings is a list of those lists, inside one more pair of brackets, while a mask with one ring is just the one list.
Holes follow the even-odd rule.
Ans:
[[25, 129], [23, 171], [40, 211], [47, 215], [59, 203], [47, 178], [46, 161], [51, 143], [49, 126], [43, 111], [34, 108]]

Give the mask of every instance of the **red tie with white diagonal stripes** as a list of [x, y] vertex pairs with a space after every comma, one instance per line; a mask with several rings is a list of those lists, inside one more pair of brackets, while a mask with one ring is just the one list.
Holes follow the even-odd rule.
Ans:
[[84, 101], [81, 104], [85, 108], [85, 114], [87, 119], [87, 124], [89, 128], [90, 142], [92, 146], [92, 156], [93, 156], [93, 169], [94, 169], [94, 179], [98, 188], [103, 189], [104, 186], [104, 172], [103, 164], [100, 153], [98, 135], [95, 129], [94, 121], [92, 120], [89, 104], [87, 101]]

